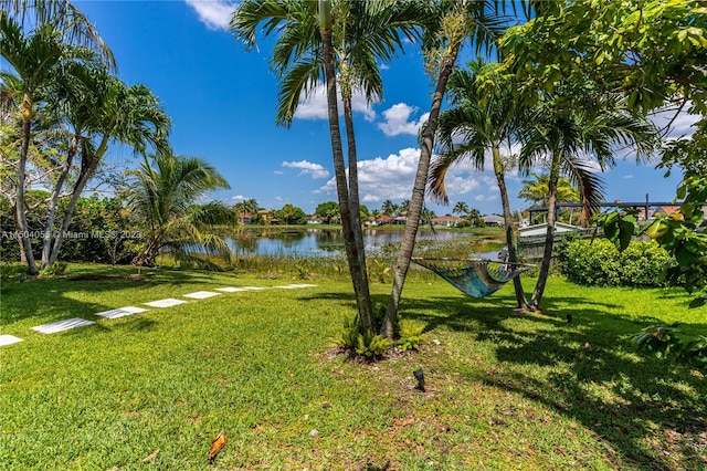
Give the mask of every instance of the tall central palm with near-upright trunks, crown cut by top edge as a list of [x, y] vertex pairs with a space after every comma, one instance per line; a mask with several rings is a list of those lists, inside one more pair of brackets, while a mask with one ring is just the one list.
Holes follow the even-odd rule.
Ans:
[[[258, 24], [263, 25], [265, 34], [279, 32], [272, 57], [282, 83], [276, 118], [278, 124], [289, 126], [300, 98], [307, 96], [320, 82], [326, 81], [335, 177], [345, 241], [351, 238], [351, 243], [346, 244], [347, 258], [357, 295], [361, 329], [370, 329], [376, 323], [370, 306], [360, 229], [351, 100], [354, 92], [359, 90], [369, 102], [380, 98], [382, 80], [378, 61], [389, 61], [397, 50], [402, 49], [401, 34], [413, 38], [413, 20], [424, 18], [424, 14], [421, 14], [424, 9], [420, 2], [391, 0], [321, 1], [318, 11], [316, 7], [312, 1], [246, 1], [235, 12], [232, 29], [249, 45], [255, 43]], [[333, 17], [337, 20], [329, 21]], [[341, 166], [344, 150], [336, 103], [337, 83], [342, 98], [347, 132], [348, 180], [346, 165]], [[333, 111], [336, 111], [336, 114], [331, 114]], [[336, 125], [333, 123], [334, 119], [337, 121]]]

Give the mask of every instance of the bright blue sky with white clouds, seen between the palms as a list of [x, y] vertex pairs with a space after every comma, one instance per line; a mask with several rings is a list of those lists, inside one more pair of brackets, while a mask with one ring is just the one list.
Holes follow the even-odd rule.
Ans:
[[[232, 4], [219, 1], [76, 1], [96, 25], [128, 84], [144, 83], [162, 101], [172, 118], [176, 154], [199, 156], [229, 180], [230, 190], [213, 199], [234, 203], [255, 198], [268, 209], [291, 202], [314, 212], [319, 202], [336, 200], [326, 101], [315, 94], [303, 103], [291, 129], [276, 127], [277, 82], [268, 70], [270, 46], [245, 52], [228, 31]], [[361, 200], [369, 209], [386, 199], [411, 197], [419, 147], [416, 132], [430, 107], [432, 81], [422, 57], [410, 53], [383, 66], [384, 95], [367, 106], [355, 100]], [[665, 121], [663, 119], [663, 123]], [[679, 117], [674, 135], [689, 132]], [[116, 149], [113, 159], [125, 161]], [[679, 176], [663, 178], [653, 165], [636, 166], [619, 155], [604, 174], [606, 200], [669, 201]], [[511, 207], [521, 187], [508, 177]], [[489, 170], [458, 166], [447, 176], [451, 205], [465, 201], [482, 213], [500, 212]], [[452, 207], [428, 203], [437, 214]]]

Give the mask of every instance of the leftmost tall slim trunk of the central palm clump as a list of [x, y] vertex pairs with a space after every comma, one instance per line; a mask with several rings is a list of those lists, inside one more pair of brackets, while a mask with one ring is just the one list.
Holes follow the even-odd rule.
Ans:
[[[339, 127], [339, 112], [337, 106], [337, 92], [336, 92], [336, 71], [334, 67], [334, 49], [331, 45], [331, 29], [327, 28], [324, 23], [330, 22], [328, 14], [328, 2], [319, 1], [320, 17], [323, 25], [321, 43], [324, 46], [324, 63], [326, 71], [326, 85], [327, 85], [327, 103], [329, 115], [329, 134], [331, 139], [331, 154], [334, 156], [334, 174], [336, 178], [336, 189], [339, 199], [339, 209], [341, 211], [341, 226], [344, 232], [344, 245], [346, 248], [346, 257], [349, 264], [349, 272], [351, 273], [351, 283], [354, 285], [354, 293], [356, 295], [356, 304], [359, 313], [359, 329], [361, 332], [374, 331], [376, 318], [373, 317], [371, 300], [368, 293], [368, 284], [363, 282], [363, 269], [360, 263], [360, 257], [356, 250], [356, 236], [354, 233], [352, 218], [351, 218], [351, 205], [349, 201], [349, 190], [346, 179], [346, 164], [344, 160], [344, 148], [341, 145], [341, 130]], [[323, 7], [323, 8], [321, 8]], [[327, 11], [323, 11], [327, 9]]]

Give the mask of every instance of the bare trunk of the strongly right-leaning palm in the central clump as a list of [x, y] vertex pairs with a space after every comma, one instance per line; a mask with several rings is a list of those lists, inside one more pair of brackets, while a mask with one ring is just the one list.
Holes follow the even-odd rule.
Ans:
[[424, 130], [422, 145], [420, 149], [420, 161], [418, 163], [418, 172], [415, 174], [415, 182], [412, 188], [412, 198], [410, 198], [410, 209], [408, 211], [408, 221], [405, 223], [405, 233], [403, 236], [398, 262], [395, 263], [395, 276], [393, 279], [393, 287], [390, 293], [386, 318], [381, 328], [381, 334], [389, 339], [393, 339], [395, 335], [395, 324], [398, 322], [398, 307], [400, 306], [400, 297], [402, 287], [405, 283], [405, 276], [410, 269], [410, 259], [415, 247], [415, 238], [420, 226], [420, 216], [424, 205], [424, 190], [428, 186], [428, 174], [430, 170], [430, 159], [434, 148], [434, 134], [437, 130], [437, 118], [442, 108], [446, 83], [454, 70], [456, 56], [458, 54], [461, 43], [452, 48], [451, 54], [443, 57], [440, 75], [437, 77], [436, 88], [432, 95], [432, 106], [430, 107], [430, 117], [428, 126]]

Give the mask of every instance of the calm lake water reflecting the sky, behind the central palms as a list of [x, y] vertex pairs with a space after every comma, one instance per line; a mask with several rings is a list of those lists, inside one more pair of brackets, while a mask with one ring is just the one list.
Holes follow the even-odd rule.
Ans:
[[[404, 231], [370, 229], [363, 231], [363, 244], [367, 252], [381, 250], [390, 244], [398, 244]], [[418, 240], [435, 240], [444, 242], [469, 233], [437, 231], [420, 231]], [[303, 230], [247, 230], [239, 231], [229, 239], [233, 250], [243, 255], [292, 255], [292, 257], [336, 257], [345, 252], [341, 230], [303, 229]]]

